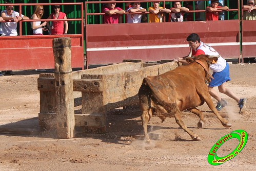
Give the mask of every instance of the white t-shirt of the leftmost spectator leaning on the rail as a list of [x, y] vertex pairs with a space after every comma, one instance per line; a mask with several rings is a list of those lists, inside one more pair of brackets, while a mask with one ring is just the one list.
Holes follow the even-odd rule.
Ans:
[[[3, 12], [6, 14], [7, 17], [19, 16], [19, 13], [16, 11], [13, 11], [12, 15], [8, 15], [6, 10], [2, 11], [1, 14]], [[22, 15], [22, 17], [23, 16], [24, 15]], [[17, 22], [1, 22], [0, 34], [5, 36], [17, 36]]]

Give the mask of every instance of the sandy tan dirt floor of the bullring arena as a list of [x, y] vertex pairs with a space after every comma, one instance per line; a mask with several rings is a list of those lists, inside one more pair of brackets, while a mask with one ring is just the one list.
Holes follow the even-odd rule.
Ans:
[[[234, 100], [222, 94], [228, 106], [220, 113], [233, 126], [224, 128], [204, 104], [205, 127], [196, 128], [199, 118], [184, 112], [183, 121], [202, 140], [192, 141], [174, 118], [161, 123], [153, 117], [149, 123], [152, 142], [142, 140], [142, 122], [138, 112], [123, 115], [122, 109], [109, 111], [106, 134], [55, 139], [43, 137], [38, 129], [40, 95], [37, 71], [15, 71], [15, 76], [0, 77], [0, 170], [256, 170], [256, 64], [230, 64], [231, 81], [227, 87], [247, 98], [239, 114]], [[216, 103], [214, 101], [214, 103]], [[210, 165], [208, 153], [214, 143], [231, 131], [248, 133], [243, 151], [219, 166]], [[33, 131], [28, 134], [27, 130]], [[13, 132], [24, 134], [13, 134]], [[12, 132], [7, 134], [8, 132]], [[231, 139], [221, 146], [220, 157], [238, 145]]]

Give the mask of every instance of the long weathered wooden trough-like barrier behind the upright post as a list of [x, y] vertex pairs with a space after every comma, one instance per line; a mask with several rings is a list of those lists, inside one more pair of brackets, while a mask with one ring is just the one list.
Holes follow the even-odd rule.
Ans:
[[[82, 92], [82, 113], [74, 114], [77, 133], [103, 133], [106, 131], [108, 110], [137, 104], [137, 92], [142, 80], [177, 67], [176, 62], [143, 67], [143, 63], [125, 62], [72, 72], [73, 91]], [[41, 130], [56, 134], [57, 106], [53, 74], [41, 74], [37, 80], [40, 90], [39, 123]]]

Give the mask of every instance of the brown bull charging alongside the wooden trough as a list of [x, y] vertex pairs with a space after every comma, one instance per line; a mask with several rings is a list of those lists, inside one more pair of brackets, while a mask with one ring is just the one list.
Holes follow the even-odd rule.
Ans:
[[220, 119], [226, 128], [231, 127], [213, 105], [205, 81], [210, 81], [209, 66], [215, 63], [218, 57], [200, 55], [195, 59], [187, 58], [188, 65], [179, 66], [159, 76], [150, 76], [143, 79], [139, 90], [140, 107], [145, 140], [150, 141], [147, 124], [152, 114], [159, 116], [163, 121], [166, 117], [174, 116], [176, 123], [184, 129], [193, 140], [201, 138], [190, 131], [181, 119], [181, 111], [189, 110], [199, 116], [199, 128], [204, 126], [204, 114], [196, 107], [204, 102]]

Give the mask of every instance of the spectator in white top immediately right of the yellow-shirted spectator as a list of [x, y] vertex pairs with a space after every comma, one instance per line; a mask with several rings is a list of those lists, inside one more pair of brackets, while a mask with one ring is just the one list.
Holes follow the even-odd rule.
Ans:
[[189, 11], [188, 8], [181, 6], [181, 1], [174, 2], [170, 10], [169, 21], [171, 22], [183, 22], [184, 13]]

